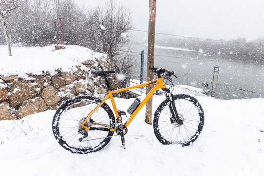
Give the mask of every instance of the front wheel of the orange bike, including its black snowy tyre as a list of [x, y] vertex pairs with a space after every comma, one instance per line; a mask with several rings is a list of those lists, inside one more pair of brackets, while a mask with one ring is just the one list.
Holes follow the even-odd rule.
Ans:
[[169, 108], [170, 99], [165, 99], [154, 114], [153, 128], [162, 144], [190, 145], [202, 131], [204, 113], [194, 97], [185, 94], [174, 95], [174, 104], [183, 124], [178, 124]]

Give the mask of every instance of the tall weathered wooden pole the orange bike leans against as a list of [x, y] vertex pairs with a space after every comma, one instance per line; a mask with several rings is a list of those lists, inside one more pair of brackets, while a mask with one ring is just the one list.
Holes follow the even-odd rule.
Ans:
[[[155, 47], [155, 27], [156, 27], [156, 6], [157, 0], [150, 0], [149, 7], [149, 36], [148, 36], [148, 62], [147, 62], [147, 81], [154, 78], [154, 74], [149, 67], [154, 66], [154, 47]], [[147, 94], [153, 85], [147, 86]], [[146, 123], [152, 124], [152, 97], [146, 103]]]

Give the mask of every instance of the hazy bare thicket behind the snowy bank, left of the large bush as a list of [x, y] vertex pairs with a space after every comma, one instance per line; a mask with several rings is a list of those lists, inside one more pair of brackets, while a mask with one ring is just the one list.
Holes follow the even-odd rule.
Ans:
[[[17, 0], [16, 3], [20, 7], [8, 18], [13, 44], [26, 47], [55, 44], [54, 19], [61, 17], [64, 42], [88, 45], [88, 10], [80, 8], [74, 0]], [[5, 44], [0, 32], [0, 44]]]

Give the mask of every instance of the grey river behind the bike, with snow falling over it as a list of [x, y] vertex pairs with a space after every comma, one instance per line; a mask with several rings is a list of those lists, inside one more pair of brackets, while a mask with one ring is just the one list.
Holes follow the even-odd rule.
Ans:
[[[132, 44], [136, 58], [133, 68], [134, 78], [140, 78], [140, 52], [145, 51], [144, 80], [147, 69], [146, 44]], [[135, 52], [135, 53], [134, 53]], [[138, 53], [138, 54], [136, 54]], [[214, 66], [219, 66], [217, 95], [224, 99], [264, 98], [264, 66], [226, 61], [221, 54], [207, 56], [201, 51], [187, 49], [155, 47], [154, 66], [172, 70], [178, 76], [173, 78], [175, 84], [187, 84], [203, 88], [204, 82], [213, 78]], [[244, 91], [245, 90], [245, 91]]]

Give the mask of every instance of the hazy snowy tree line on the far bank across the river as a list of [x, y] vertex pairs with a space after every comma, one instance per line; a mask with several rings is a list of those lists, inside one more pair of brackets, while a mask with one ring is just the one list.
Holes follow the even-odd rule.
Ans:
[[246, 38], [239, 37], [224, 41], [175, 37], [157, 40], [156, 44], [200, 51], [201, 57], [264, 64], [264, 38], [247, 41]]

